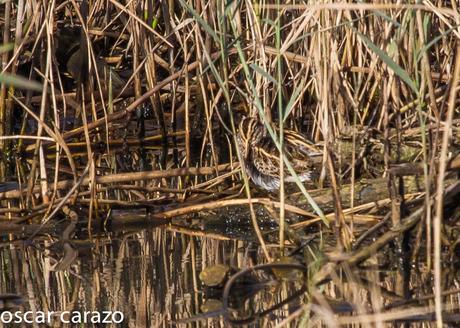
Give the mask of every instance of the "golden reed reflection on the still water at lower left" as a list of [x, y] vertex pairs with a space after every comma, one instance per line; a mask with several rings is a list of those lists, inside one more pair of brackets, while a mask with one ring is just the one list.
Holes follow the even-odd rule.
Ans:
[[[51, 271], [49, 242], [0, 249], [0, 294], [24, 296], [21, 311], [120, 311], [122, 326], [169, 326], [200, 313], [198, 279], [203, 267], [254, 265], [250, 242], [196, 238], [154, 228], [93, 236], [75, 243], [78, 259], [67, 271]], [[207, 318], [219, 324], [221, 318]], [[202, 321], [205, 323], [206, 321]], [[119, 327], [120, 325], [114, 324]]]

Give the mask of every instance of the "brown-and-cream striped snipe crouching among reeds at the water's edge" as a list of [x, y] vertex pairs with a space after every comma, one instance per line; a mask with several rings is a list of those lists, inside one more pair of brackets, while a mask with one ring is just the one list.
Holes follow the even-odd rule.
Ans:
[[[266, 190], [279, 189], [279, 151], [265, 126], [257, 118], [246, 117], [239, 124], [236, 139], [246, 172], [252, 181]], [[300, 181], [312, 179], [311, 158], [321, 153], [305, 136], [284, 129], [283, 152]], [[294, 177], [289, 174], [286, 166], [284, 171], [285, 181], [293, 182]]]

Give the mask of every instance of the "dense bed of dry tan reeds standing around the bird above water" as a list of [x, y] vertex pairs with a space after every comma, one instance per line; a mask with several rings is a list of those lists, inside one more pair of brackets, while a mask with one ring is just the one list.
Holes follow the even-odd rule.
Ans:
[[[44, 229], [76, 204], [90, 228], [111, 208], [170, 220], [244, 205], [263, 261], [307, 226], [334, 237], [309, 282], [314, 297], [280, 325], [458, 323], [458, 291], [449, 291], [458, 277], [446, 278], [460, 263], [458, 6], [4, 1], [0, 177], [10, 184], [0, 190], [1, 224]], [[317, 143], [315, 186], [281, 183], [270, 197], [251, 188], [234, 146], [245, 116], [257, 116], [280, 147], [284, 128]], [[327, 190], [327, 201], [312, 188]], [[259, 227], [261, 204], [278, 220], [279, 247]], [[297, 226], [291, 213], [302, 217]], [[404, 300], [399, 312], [375, 284], [360, 315], [327, 319], [318, 286], [331, 279], [328, 295], [346, 286], [337, 293], [356, 301], [356, 265], [378, 266], [389, 244], [402, 258], [389, 288]], [[417, 274], [405, 277], [407, 266]]]

